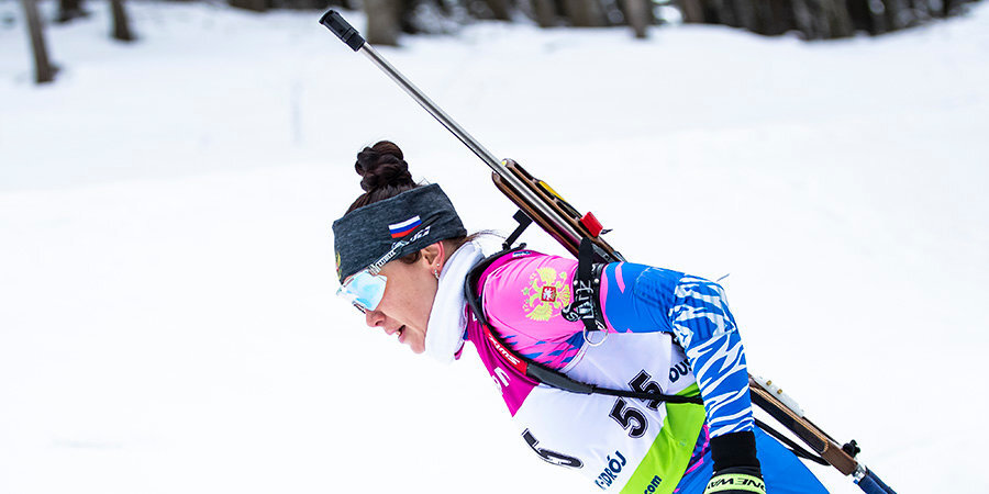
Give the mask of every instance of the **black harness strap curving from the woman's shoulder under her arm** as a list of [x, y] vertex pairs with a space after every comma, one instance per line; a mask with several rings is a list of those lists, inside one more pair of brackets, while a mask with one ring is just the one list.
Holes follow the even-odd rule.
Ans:
[[[498, 332], [491, 329], [491, 326], [488, 324], [488, 318], [485, 316], [484, 304], [481, 303], [481, 297], [478, 293], [480, 277], [484, 274], [485, 270], [491, 266], [494, 261], [500, 259], [502, 256], [511, 255], [512, 252], [522, 250], [525, 248], [525, 244], [521, 244], [514, 248], [508, 248], [501, 250], [497, 254], [488, 256], [484, 260], [481, 260], [477, 266], [470, 269], [470, 272], [467, 273], [467, 280], [465, 280], [464, 292], [467, 299], [467, 306], [470, 307], [470, 312], [477, 318], [477, 321], [482, 324], [488, 333], [498, 340], [499, 344], [504, 348], [505, 351], [509, 351], [516, 359], [525, 362], [525, 375], [541, 382], [547, 384], [549, 386], [569, 391], [571, 393], [579, 394], [604, 394], [610, 396], [623, 396], [623, 397], [633, 397], [640, 400], [656, 400], [664, 401], [667, 403], [692, 403], [692, 404], [702, 404], [700, 396], [679, 396], [676, 394], [664, 394], [664, 393], [653, 393], [653, 392], [638, 392], [631, 390], [611, 390], [608, 388], [598, 388], [593, 384], [587, 384], [579, 381], [575, 381], [567, 377], [567, 374], [559, 372], [557, 370], [545, 367], [541, 363], [537, 363], [531, 359], [522, 357], [519, 355], [512, 347], [509, 346], [507, 341], [501, 338], [501, 335]], [[578, 270], [579, 270], [578, 265]], [[600, 274], [599, 274], [600, 276]], [[597, 291], [594, 291], [596, 293]], [[603, 326], [602, 326], [603, 327]], [[475, 345], [480, 345], [480, 343], [475, 343]]]

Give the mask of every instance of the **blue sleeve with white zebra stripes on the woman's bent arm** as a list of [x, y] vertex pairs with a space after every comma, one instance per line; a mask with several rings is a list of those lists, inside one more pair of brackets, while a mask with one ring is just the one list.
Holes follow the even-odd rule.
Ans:
[[721, 285], [629, 262], [608, 265], [602, 278], [602, 310], [612, 330], [673, 333], [684, 347], [711, 436], [752, 430], [745, 349]]

